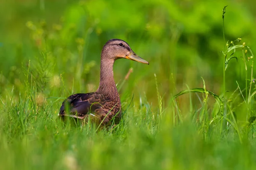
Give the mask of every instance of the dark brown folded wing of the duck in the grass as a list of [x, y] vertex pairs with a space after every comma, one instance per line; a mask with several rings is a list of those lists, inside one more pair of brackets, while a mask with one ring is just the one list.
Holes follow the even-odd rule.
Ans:
[[[96, 92], [73, 94], [64, 100], [61, 105], [59, 115], [84, 119], [87, 114], [93, 113], [96, 109], [102, 108], [102, 105], [107, 101], [107, 97]], [[70, 111], [70, 114], [65, 113], [66, 109]]]

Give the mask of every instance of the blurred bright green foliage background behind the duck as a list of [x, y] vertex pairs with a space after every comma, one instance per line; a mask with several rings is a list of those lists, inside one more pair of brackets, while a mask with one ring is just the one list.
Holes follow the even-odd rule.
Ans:
[[[226, 44], [221, 10], [229, 5], [225, 15], [226, 40], [243, 36], [242, 42], [254, 51], [253, 4], [250, 0], [2, 1], [0, 93], [12, 85], [19, 92], [23, 68], [26, 70], [29, 59], [33, 65], [43, 61], [43, 56], [47, 56], [51, 65], [48, 73], [42, 73], [45, 77], [56, 80], [62, 74], [70, 90], [74, 80], [75, 92], [96, 90], [102, 46], [109, 39], [119, 38], [150, 62], [142, 65], [118, 60], [114, 66], [116, 83], [122, 82], [130, 67], [134, 68], [128, 80], [132, 83], [125, 83], [123, 89], [128, 88], [135, 95], [145, 92], [154, 105], [156, 97], [152, 89], [156, 74], [160, 94], [165, 99], [186, 89], [186, 85], [201, 87], [201, 77], [208, 90], [220, 94], [223, 74], [220, 51]], [[83, 40], [79, 42], [80, 39]], [[244, 64], [239, 58], [239, 62], [231, 60], [230, 65], [227, 90], [233, 91], [235, 80], [244, 81]], [[35, 70], [33, 76], [37, 74]], [[49, 87], [48, 82], [44, 89]]]

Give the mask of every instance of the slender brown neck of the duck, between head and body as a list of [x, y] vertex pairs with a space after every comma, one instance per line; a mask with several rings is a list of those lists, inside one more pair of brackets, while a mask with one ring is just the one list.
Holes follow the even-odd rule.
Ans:
[[100, 63], [100, 82], [97, 92], [112, 96], [117, 92], [113, 75], [113, 59], [102, 59]]

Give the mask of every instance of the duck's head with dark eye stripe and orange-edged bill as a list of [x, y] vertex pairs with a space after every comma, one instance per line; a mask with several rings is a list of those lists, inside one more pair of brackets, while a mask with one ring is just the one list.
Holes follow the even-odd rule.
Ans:
[[147, 62], [145, 59], [137, 56], [137, 54], [132, 51], [130, 45], [128, 45], [127, 42], [119, 39], [108, 40], [102, 49], [102, 59], [116, 60], [121, 58], [149, 64], [149, 62]]

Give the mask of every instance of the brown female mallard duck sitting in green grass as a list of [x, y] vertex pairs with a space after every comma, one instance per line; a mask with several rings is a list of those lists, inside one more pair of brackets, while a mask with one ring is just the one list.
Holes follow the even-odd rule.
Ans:
[[[149, 64], [135, 54], [127, 42], [119, 39], [109, 40], [103, 47], [100, 63], [100, 82], [96, 92], [87, 94], [73, 94], [61, 105], [60, 116], [71, 116], [78, 119], [88, 117], [103, 125], [111, 119], [118, 123], [121, 118], [121, 102], [113, 77], [113, 64], [116, 59], [131, 59]], [[70, 114], [65, 113], [67, 108]]]

